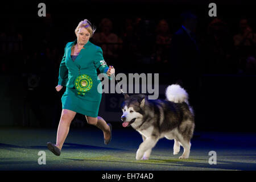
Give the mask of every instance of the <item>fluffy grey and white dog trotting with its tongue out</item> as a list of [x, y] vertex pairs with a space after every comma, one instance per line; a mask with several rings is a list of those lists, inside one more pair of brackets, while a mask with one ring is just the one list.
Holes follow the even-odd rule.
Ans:
[[121, 117], [123, 127], [132, 126], [141, 135], [136, 159], [148, 159], [160, 138], [174, 139], [174, 155], [184, 152], [179, 159], [188, 159], [191, 138], [195, 129], [194, 114], [188, 103], [188, 93], [180, 85], [166, 88], [166, 100], [148, 100], [144, 94], [125, 94]]

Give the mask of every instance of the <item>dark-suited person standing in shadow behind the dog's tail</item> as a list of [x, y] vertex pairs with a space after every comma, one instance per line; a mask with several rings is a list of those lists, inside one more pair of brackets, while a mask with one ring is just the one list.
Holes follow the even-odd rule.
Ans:
[[181, 25], [171, 40], [171, 79], [188, 91], [189, 101], [196, 111], [200, 77], [200, 56], [195, 36], [197, 16], [191, 11], [184, 11]]

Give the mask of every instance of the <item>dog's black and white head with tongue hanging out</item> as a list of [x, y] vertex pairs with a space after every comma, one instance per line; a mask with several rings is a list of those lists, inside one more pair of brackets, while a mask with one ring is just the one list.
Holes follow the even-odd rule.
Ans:
[[143, 94], [128, 96], [125, 94], [125, 101], [122, 104], [123, 115], [121, 120], [123, 127], [138, 126], [142, 123], [143, 109], [146, 104], [147, 96]]

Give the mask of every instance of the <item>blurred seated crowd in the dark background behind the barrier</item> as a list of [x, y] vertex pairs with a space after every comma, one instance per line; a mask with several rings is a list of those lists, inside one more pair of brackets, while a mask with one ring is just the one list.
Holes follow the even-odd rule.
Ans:
[[[43, 29], [40, 34], [43, 35], [36, 36], [40, 41], [35, 45], [38, 48], [31, 44], [28, 46], [29, 41], [23, 38], [23, 34], [15, 27], [15, 22], [8, 22], [0, 35], [1, 72], [15, 73], [23, 68], [23, 71], [28, 72], [47, 70], [48, 73], [56, 73], [63, 45], [62, 42], [55, 42], [57, 28], [54, 21], [51, 14], [47, 14], [43, 26], [40, 26]], [[102, 18], [96, 24], [97, 31], [90, 39], [92, 43], [101, 46], [109, 65], [120, 68], [122, 72], [154, 73], [168, 73], [168, 68], [174, 67], [171, 44], [178, 30], [171, 28], [170, 20], [151, 20], [138, 16], [118, 23], [120, 24], [114, 26], [112, 19]], [[196, 25], [199, 23], [200, 19]], [[237, 24], [239, 30], [230, 31], [228, 22], [212, 18], [208, 24], [195, 28], [194, 40], [200, 51], [200, 68], [203, 73], [256, 73], [256, 34], [248, 19], [237, 19]], [[114, 30], [114, 27], [119, 27], [119, 30]], [[137, 65], [136, 68], [134, 65]], [[36, 67], [39, 69], [35, 69]]]

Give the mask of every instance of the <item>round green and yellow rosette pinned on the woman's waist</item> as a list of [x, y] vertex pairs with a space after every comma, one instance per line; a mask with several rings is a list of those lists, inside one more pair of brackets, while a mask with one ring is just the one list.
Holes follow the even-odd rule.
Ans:
[[75, 80], [75, 88], [77, 90], [77, 94], [84, 95], [92, 88], [92, 78], [86, 74], [79, 75]]

